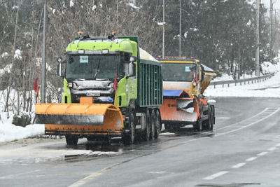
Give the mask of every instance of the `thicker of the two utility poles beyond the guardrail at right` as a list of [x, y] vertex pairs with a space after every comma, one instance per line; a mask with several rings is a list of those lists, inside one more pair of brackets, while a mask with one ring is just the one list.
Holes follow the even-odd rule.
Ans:
[[256, 0], [257, 14], [255, 19], [255, 76], [260, 76], [260, 30], [259, 30], [259, 20], [260, 20], [260, 0]]

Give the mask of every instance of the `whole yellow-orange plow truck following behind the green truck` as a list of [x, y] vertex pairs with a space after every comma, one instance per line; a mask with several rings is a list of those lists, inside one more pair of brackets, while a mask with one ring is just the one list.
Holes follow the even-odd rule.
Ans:
[[159, 60], [164, 89], [160, 112], [165, 129], [178, 131], [180, 127], [193, 125], [196, 132], [213, 130], [215, 107], [203, 93], [215, 72], [193, 58], [159, 57]]

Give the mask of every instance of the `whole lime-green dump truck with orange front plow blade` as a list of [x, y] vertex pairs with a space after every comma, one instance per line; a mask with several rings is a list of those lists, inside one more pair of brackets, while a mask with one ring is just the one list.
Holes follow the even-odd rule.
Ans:
[[57, 75], [64, 79], [63, 103], [35, 106], [45, 134], [65, 135], [67, 144], [158, 137], [161, 63], [139, 48], [137, 36], [76, 37], [64, 60], [58, 57]]

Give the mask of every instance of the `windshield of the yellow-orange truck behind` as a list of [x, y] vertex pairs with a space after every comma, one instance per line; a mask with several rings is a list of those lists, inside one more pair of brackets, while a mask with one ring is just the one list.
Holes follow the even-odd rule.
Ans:
[[187, 81], [192, 82], [195, 64], [162, 63], [163, 81]]

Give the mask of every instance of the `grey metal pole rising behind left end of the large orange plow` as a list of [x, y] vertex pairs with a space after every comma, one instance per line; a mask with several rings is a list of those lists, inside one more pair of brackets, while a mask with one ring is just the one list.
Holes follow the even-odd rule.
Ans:
[[45, 11], [47, 9], [47, 2], [44, 0], [44, 21], [43, 21], [43, 57], [42, 57], [42, 94], [41, 103], [45, 103]]

